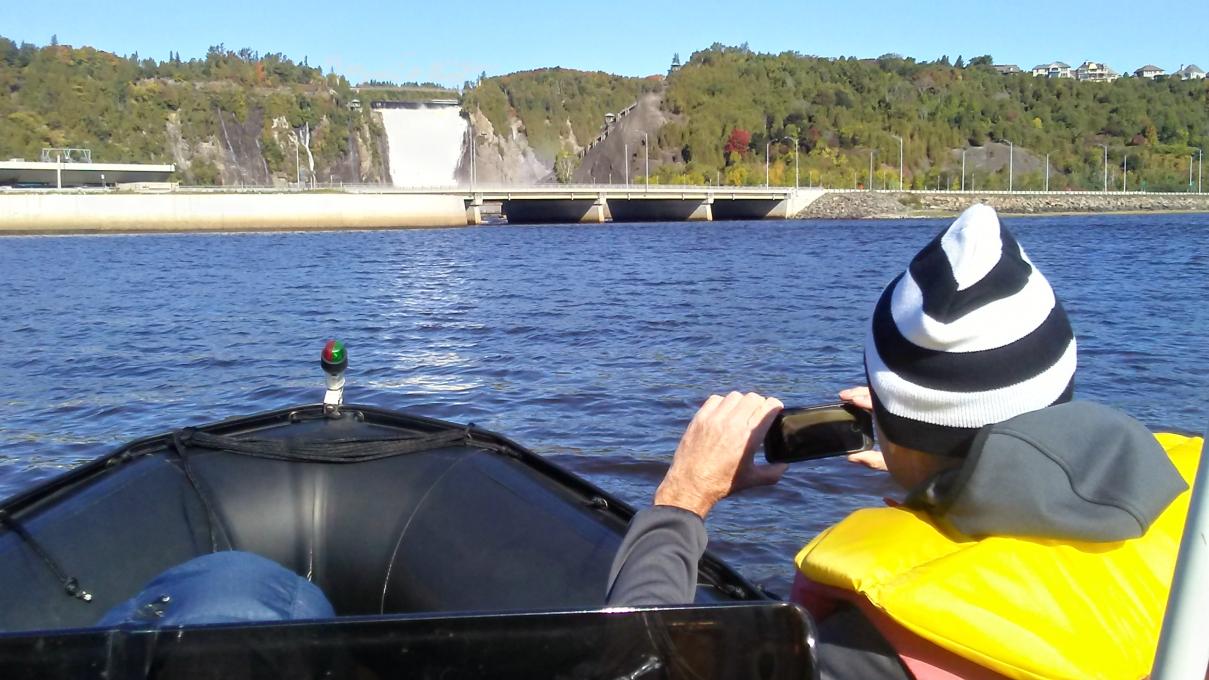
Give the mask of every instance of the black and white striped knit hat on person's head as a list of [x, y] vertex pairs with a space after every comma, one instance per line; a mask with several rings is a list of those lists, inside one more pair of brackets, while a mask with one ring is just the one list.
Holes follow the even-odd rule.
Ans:
[[1070, 400], [1075, 334], [995, 211], [974, 204], [886, 287], [864, 369], [886, 438], [965, 456], [979, 427]]

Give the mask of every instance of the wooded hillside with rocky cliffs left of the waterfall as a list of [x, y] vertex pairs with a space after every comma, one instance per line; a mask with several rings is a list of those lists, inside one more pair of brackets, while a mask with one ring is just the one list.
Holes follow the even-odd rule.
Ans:
[[[0, 156], [91, 148], [105, 162], [175, 162], [183, 181], [376, 179], [372, 119], [339, 75], [282, 54], [164, 62], [0, 38]], [[297, 152], [297, 161], [295, 156]]]

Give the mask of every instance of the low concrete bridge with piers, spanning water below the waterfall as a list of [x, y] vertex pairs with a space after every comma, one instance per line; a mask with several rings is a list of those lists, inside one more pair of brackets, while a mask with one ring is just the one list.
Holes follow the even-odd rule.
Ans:
[[510, 223], [711, 221], [789, 219], [825, 194], [792, 186], [665, 186], [543, 184], [534, 186], [364, 188], [364, 191], [455, 195], [467, 221], [482, 223], [482, 204], [499, 202]]

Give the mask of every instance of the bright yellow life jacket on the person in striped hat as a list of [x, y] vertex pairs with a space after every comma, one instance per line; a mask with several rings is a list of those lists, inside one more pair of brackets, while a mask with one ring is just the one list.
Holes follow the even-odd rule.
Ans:
[[[1203, 439], [1156, 434], [1191, 485]], [[1190, 492], [1145, 535], [1107, 543], [950, 537], [907, 508], [850, 514], [798, 553], [910, 633], [1008, 678], [1144, 678], [1158, 645]]]

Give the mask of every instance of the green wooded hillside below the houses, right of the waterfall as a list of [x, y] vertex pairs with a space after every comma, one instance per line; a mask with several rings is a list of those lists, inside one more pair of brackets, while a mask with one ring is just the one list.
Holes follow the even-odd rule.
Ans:
[[[960, 59], [959, 59], [960, 63]], [[1121, 79], [1112, 83], [1001, 75], [990, 57], [950, 65], [757, 54], [715, 45], [667, 80], [665, 106], [683, 117], [659, 134], [684, 163], [660, 168], [661, 181], [793, 184], [793, 142], [802, 184], [897, 186], [903, 138], [906, 185], [959, 185], [961, 150], [1006, 140], [1016, 145], [1016, 189], [1103, 186], [1104, 149], [1112, 177], [1128, 155], [1129, 188], [1187, 190], [1193, 146], [1209, 145], [1209, 80]], [[971, 160], [985, 159], [973, 154]], [[1007, 154], [983, 163], [979, 189], [1007, 186]], [[970, 163], [971, 175], [979, 166]], [[970, 181], [970, 179], [967, 179]], [[951, 183], [951, 184], [950, 184]]]

